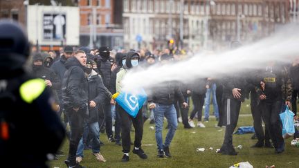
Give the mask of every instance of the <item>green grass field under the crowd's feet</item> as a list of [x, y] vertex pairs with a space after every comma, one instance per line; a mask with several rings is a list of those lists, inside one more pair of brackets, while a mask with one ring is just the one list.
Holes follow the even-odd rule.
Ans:
[[[248, 102], [242, 104], [242, 114], [250, 113], [250, 107], [246, 106]], [[251, 126], [252, 117], [241, 115], [237, 127]], [[206, 128], [183, 129], [183, 124], [179, 124], [170, 151], [172, 158], [157, 158], [156, 157], [156, 140], [154, 131], [149, 129], [149, 121], [145, 122], [143, 133], [143, 149], [147, 153], [148, 159], [141, 160], [130, 153], [129, 162], [120, 162], [123, 157], [122, 147], [114, 143], [108, 142], [106, 134], [100, 134], [100, 140], [105, 143], [101, 147], [102, 155], [107, 159], [107, 162], [98, 162], [92, 156], [91, 150], [84, 151], [84, 159], [81, 165], [86, 167], [230, 167], [237, 162], [250, 162], [253, 167], [266, 167], [266, 165], [275, 165], [275, 168], [299, 167], [299, 147], [290, 146], [291, 138], [286, 140], [286, 150], [284, 153], [275, 154], [274, 149], [253, 149], [251, 145], [255, 144], [256, 140], [251, 140], [252, 134], [234, 135], [233, 144], [237, 147], [242, 145], [242, 149], [236, 149], [239, 154], [237, 156], [224, 156], [216, 153], [215, 150], [221, 147], [224, 140], [225, 128], [215, 128], [215, 118], [211, 118], [210, 122], [205, 122]], [[195, 123], [196, 124], [196, 123]], [[164, 125], [165, 127], [165, 125]], [[163, 130], [163, 140], [167, 130]], [[134, 138], [134, 133], [132, 133]], [[134, 140], [134, 139], [133, 139]], [[68, 141], [62, 145], [62, 151], [65, 156], [59, 157], [59, 160], [50, 162], [51, 167], [66, 167], [64, 159], [68, 152]], [[133, 146], [132, 146], [133, 147]], [[197, 152], [196, 149], [203, 147], [206, 151]], [[212, 147], [212, 150], [209, 148]]]

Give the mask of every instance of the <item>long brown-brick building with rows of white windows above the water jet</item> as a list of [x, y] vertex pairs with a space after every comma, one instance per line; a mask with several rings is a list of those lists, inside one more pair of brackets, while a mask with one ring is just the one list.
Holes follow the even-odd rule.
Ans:
[[289, 21], [287, 0], [124, 0], [123, 3], [126, 48], [138, 45], [163, 48], [169, 39], [174, 39], [183, 48], [214, 49], [233, 40], [245, 42], [266, 37], [275, 26]]

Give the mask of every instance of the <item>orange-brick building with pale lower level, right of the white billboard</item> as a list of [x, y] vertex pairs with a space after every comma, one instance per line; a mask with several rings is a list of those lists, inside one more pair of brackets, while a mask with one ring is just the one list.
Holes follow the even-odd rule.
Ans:
[[[80, 0], [80, 46], [123, 46], [122, 1]], [[118, 8], [116, 8], [118, 7]], [[117, 18], [115, 18], [117, 17]]]

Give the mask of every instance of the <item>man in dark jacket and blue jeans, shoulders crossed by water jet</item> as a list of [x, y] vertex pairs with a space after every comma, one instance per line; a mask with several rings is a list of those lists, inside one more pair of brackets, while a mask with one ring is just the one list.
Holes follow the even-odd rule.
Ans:
[[[161, 55], [161, 63], [167, 64], [170, 62], [171, 55]], [[155, 137], [158, 147], [158, 158], [172, 157], [170, 153], [170, 143], [174, 137], [177, 128], [176, 110], [174, 108], [174, 95], [179, 98], [179, 102], [183, 104], [183, 108], [187, 108], [188, 104], [185, 102], [181, 88], [174, 82], [167, 82], [156, 87], [151, 96], [148, 97], [149, 108], [154, 109], [155, 120]], [[169, 124], [169, 131], [163, 144], [162, 129], [164, 116], [167, 118]]]

